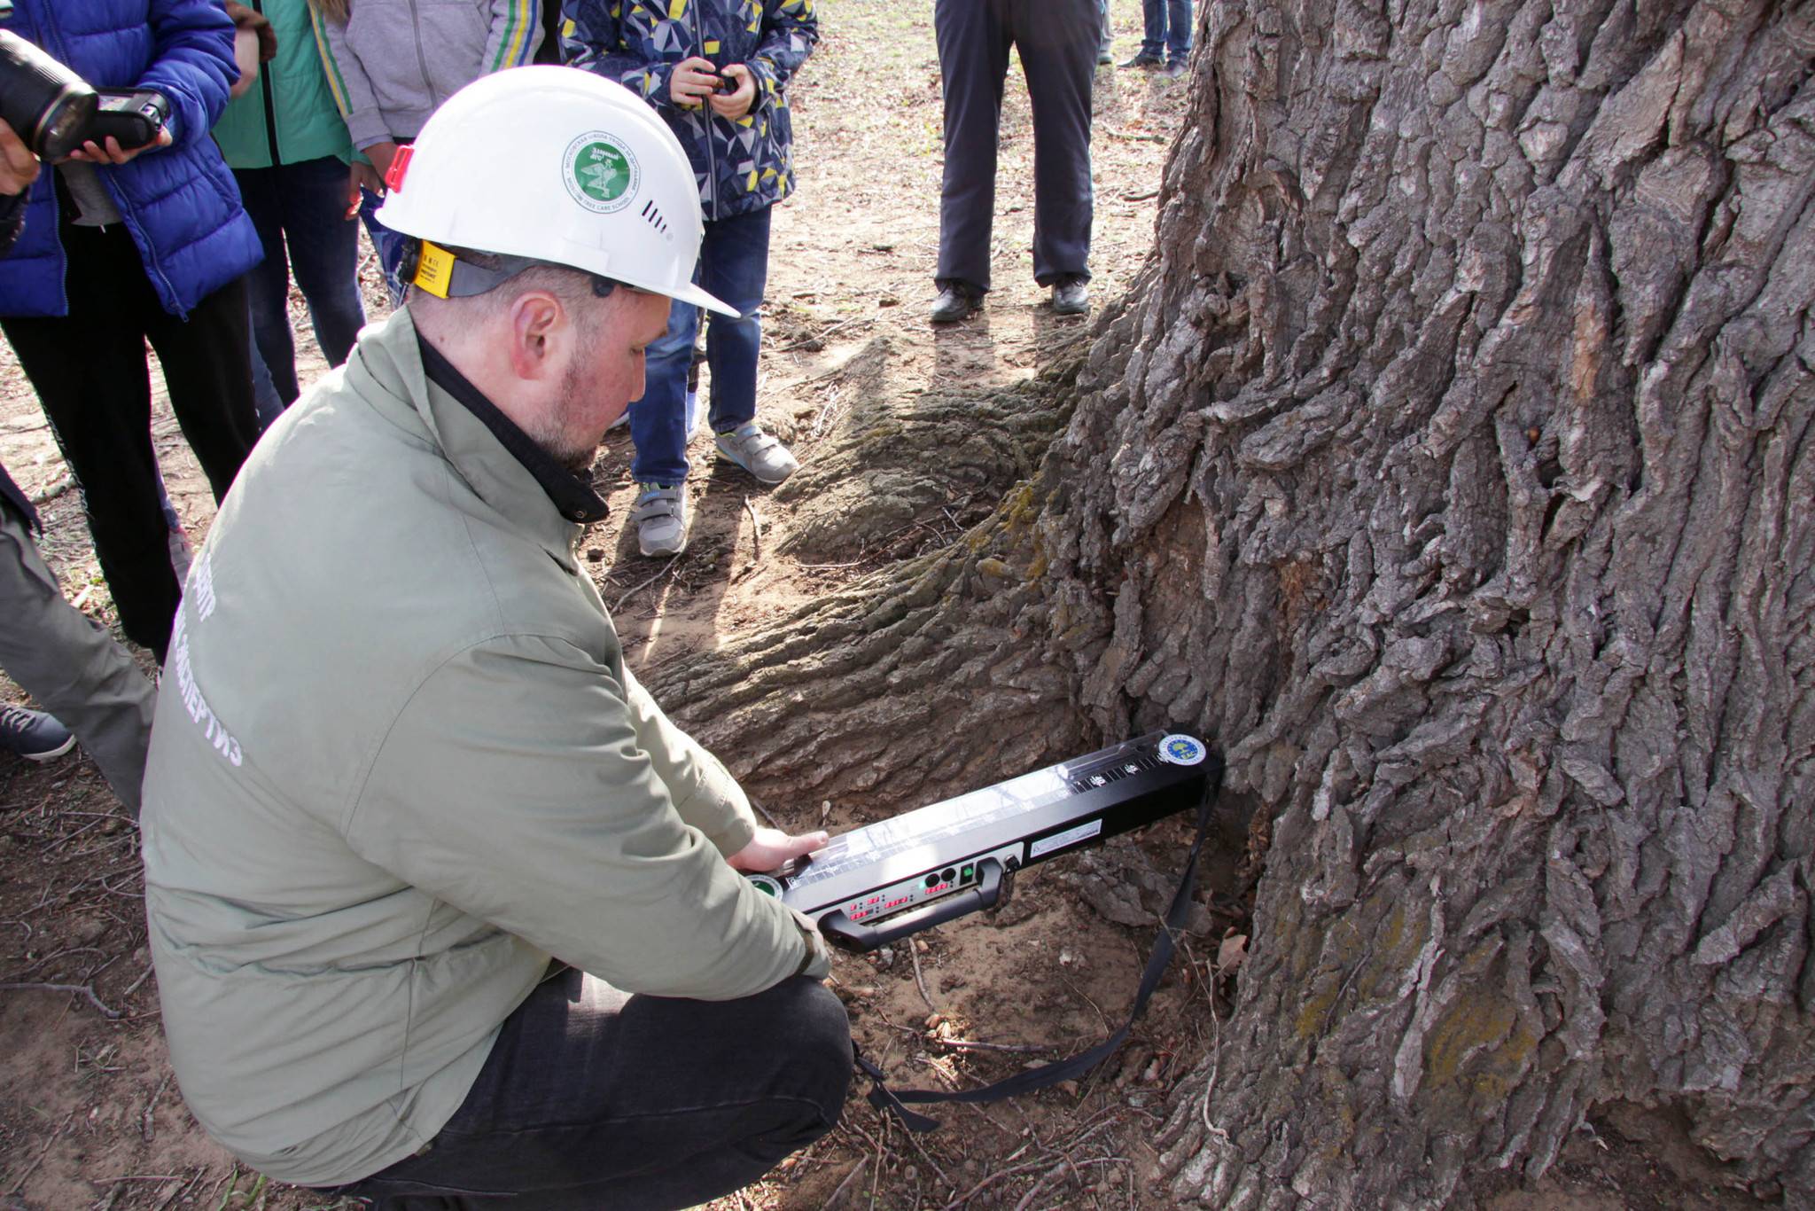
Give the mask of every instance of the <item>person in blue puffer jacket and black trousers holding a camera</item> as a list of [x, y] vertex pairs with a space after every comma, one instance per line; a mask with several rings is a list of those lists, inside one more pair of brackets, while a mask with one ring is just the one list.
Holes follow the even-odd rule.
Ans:
[[[0, 261], [0, 330], [82, 487], [120, 625], [162, 663], [182, 586], [158, 505], [145, 341], [216, 501], [258, 438], [243, 278], [261, 252], [209, 138], [240, 74], [234, 27], [211, 0], [13, 7], [5, 29], [80, 76], [74, 85], [116, 89], [151, 114], [102, 127], [143, 142], [85, 138], [38, 174]], [[7, 100], [29, 94], [15, 87]], [[102, 111], [118, 118], [107, 100]]]

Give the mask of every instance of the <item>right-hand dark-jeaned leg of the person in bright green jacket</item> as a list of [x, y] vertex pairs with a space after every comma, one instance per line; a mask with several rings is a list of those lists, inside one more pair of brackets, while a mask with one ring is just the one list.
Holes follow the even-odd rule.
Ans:
[[323, 156], [287, 163], [281, 174], [290, 272], [309, 301], [321, 356], [329, 365], [339, 365], [365, 327], [359, 223], [347, 218], [347, 165], [336, 156]]

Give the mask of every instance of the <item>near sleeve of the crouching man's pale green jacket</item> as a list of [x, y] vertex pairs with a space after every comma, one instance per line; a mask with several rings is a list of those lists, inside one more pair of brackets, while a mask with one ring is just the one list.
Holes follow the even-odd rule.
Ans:
[[[662, 728], [561, 639], [499, 637], [399, 712], [345, 824], [368, 862], [615, 988], [730, 1000], [824, 973], [819, 937], [675, 808]], [[721, 770], [722, 773], [722, 770]]]

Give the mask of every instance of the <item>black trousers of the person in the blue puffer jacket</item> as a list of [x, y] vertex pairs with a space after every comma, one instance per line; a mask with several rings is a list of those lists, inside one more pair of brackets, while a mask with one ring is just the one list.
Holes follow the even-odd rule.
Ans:
[[245, 283], [209, 294], [185, 321], [163, 310], [122, 223], [64, 223], [62, 240], [69, 314], [0, 320], [0, 329], [82, 485], [120, 626], [162, 663], [182, 586], [158, 507], [145, 341], [158, 350], [171, 409], [220, 501], [258, 439]]

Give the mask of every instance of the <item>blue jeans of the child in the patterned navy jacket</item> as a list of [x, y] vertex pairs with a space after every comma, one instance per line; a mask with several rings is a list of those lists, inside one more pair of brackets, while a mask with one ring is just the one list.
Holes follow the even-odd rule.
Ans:
[[[699, 247], [693, 281], [737, 309], [737, 318], [713, 312], [706, 320], [706, 367], [711, 370], [711, 409], [706, 419], [717, 434], [757, 418], [757, 352], [762, 347], [762, 289], [770, 278], [770, 207], [710, 220]], [[637, 483], [686, 479], [686, 370], [693, 359], [699, 307], [675, 303], [668, 332], [650, 345], [643, 398], [630, 405], [630, 463]]]

